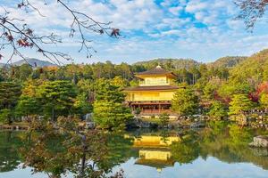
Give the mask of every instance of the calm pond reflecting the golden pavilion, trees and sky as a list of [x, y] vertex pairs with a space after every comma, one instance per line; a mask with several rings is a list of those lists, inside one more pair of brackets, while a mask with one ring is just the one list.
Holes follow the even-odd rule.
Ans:
[[[110, 134], [105, 166], [112, 173], [122, 169], [125, 177], [130, 178], [267, 178], [268, 150], [247, 146], [255, 135], [265, 132], [218, 122], [197, 130], [134, 130]], [[0, 132], [0, 177], [43, 178], [52, 170], [44, 168], [33, 174], [32, 167], [23, 164], [24, 134]], [[69, 170], [62, 176], [75, 174]]]

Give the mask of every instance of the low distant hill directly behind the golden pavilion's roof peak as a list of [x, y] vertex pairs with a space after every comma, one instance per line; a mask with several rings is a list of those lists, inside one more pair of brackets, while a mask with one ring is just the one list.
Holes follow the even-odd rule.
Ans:
[[155, 59], [150, 61], [138, 61], [133, 65], [141, 65], [147, 69], [155, 68], [157, 65], [162, 65], [166, 68], [174, 69], [189, 69], [193, 66], [199, 66], [201, 63], [192, 59]]

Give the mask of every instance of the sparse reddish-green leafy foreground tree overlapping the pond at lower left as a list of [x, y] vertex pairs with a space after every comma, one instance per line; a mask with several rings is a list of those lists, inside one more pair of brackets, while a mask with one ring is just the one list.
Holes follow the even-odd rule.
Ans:
[[[28, 132], [27, 146], [21, 148], [24, 166], [49, 177], [106, 177], [112, 167], [106, 162], [107, 134], [79, 131], [79, 120], [60, 118], [57, 123], [35, 122]], [[57, 127], [58, 129], [54, 129]], [[34, 132], [38, 129], [38, 133]], [[26, 140], [25, 140], [26, 141]], [[110, 177], [122, 177], [118, 172]]]

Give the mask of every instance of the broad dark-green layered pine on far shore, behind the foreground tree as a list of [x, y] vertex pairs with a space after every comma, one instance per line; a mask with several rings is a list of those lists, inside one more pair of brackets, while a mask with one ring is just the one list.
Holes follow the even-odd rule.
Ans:
[[58, 116], [70, 115], [76, 91], [69, 81], [46, 81], [38, 87], [38, 98], [45, 115], [55, 120]]

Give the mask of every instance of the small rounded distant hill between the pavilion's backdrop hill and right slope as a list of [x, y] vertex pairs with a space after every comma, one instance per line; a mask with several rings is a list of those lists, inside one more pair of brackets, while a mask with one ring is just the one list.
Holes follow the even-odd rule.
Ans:
[[219, 58], [218, 60], [214, 62], [207, 63], [208, 67], [214, 67], [214, 68], [232, 68], [237, 66], [240, 62], [247, 60], [247, 57], [245, 56], [226, 56]]

